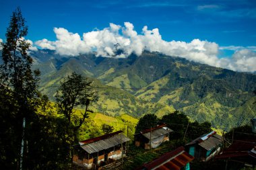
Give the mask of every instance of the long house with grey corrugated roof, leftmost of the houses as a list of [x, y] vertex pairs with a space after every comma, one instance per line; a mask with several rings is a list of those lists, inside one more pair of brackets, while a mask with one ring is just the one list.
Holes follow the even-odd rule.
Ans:
[[73, 163], [91, 169], [121, 159], [129, 142], [122, 131], [80, 141], [73, 149]]

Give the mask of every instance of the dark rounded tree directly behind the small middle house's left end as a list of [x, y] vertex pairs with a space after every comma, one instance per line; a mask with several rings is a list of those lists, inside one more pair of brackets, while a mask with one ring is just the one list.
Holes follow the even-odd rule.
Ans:
[[148, 128], [154, 128], [158, 125], [158, 117], [155, 114], [146, 114], [139, 119], [136, 125], [135, 133], [141, 132], [141, 130], [146, 130]]

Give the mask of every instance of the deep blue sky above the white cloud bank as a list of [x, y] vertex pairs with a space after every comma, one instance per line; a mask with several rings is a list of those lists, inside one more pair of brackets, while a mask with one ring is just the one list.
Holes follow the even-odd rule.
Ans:
[[54, 28], [65, 28], [82, 38], [83, 33], [104, 30], [110, 23], [123, 29], [124, 22], [129, 22], [137, 34], [143, 34], [143, 26], [148, 30], [158, 28], [166, 42], [214, 42], [218, 44], [218, 58], [232, 57], [238, 50], [256, 49], [255, 0], [0, 0], [3, 41], [11, 13], [18, 6], [29, 27], [26, 39], [32, 42], [44, 38], [56, 41]]

